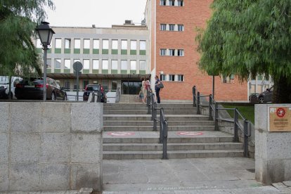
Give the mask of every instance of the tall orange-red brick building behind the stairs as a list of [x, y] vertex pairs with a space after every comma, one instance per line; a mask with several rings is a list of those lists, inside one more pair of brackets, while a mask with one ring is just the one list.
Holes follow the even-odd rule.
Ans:
[[[162, 100], [190, 100], [192, 87], [212, 93], [212, 76], [198, 68], [196, 28], [206, 27], [212, 0], [148, 0], [145, 18], [150, 30], [151, 74], [164, 84]], [[152, 82], [154, 80], [152, 79]], [[215, 77], [218, 101], [247, 101], [247, 83], [235, 76]]]

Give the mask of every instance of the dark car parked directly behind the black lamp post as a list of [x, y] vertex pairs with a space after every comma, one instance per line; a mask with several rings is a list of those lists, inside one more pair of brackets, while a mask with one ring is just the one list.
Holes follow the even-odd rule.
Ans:
[[[16, 85], [15, 97], [20, 100], [42, 100], [43, 96], [44, 79], [34, 79], [32, 82], [23, 80]], [[49, 77], [46, 79], [46, 99], [67, 101], [67, 93], [56, 80]]]

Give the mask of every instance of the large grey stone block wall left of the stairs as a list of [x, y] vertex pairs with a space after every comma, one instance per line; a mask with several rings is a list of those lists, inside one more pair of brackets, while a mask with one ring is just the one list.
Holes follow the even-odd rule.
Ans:
[[101, 103], [0, 103], [0, 191], [102, 187]]

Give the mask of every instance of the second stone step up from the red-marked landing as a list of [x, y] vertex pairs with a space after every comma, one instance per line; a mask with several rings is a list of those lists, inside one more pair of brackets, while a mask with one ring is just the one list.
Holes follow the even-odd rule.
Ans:
[[[153, 121], [104, 121], [103, 125], [110, 126], [151, 126]], [[214, 121], [169, 121], [168, 126], [214, 126]]]

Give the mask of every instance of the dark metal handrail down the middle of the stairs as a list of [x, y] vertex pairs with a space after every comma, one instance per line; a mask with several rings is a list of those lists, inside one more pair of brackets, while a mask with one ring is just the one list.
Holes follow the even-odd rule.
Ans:
[[[155, 102], [155, 93], [148, 90], [147, 91], [147, 101], [148, 115], [152, 115], [151, 119], [153, 121], [153, 131], [157, 131], [157, 122], [160, 122], [160, 138], [159, 142], [162, 143], [162, 159], [166, 160], [167, 157], [167, 138], [168, 138], [168, 122], [164, 116], [164, 108], [157, 108], [157, 103]], [[160, 110], [160, 119], [157, 119], [157, 110]]]

